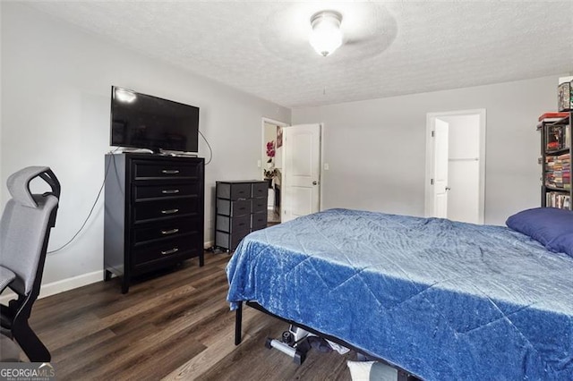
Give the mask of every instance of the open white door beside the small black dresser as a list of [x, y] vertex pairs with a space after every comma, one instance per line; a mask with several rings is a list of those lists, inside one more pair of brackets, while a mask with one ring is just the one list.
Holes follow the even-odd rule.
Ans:
[[281, 222], [319, 211], [321, 124], [283, 128]]

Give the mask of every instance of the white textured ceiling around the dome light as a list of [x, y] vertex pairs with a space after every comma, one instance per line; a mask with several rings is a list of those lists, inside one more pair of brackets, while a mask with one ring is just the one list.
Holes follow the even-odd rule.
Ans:
[[[146, 55], [302, 107], [573, 72], [573, 2], [30, 2]], [[312, 13], [345, 44], [308, 44]], [[413, 105], [415, 107], [415, 105]]]

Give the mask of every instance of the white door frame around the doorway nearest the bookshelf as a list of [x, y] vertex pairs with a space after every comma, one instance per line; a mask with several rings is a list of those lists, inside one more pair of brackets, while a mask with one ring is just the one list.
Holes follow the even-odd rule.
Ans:
[[480, 178], [479, 178], [479, 199], [478, 199], [478, 223], [483, 224], [485, 214], [485, 129], [486, 129], [486, 112], [485, 108], [447, 111], [440, 113], [426, 114], [426, 157], [425, 157], [425, 186], [424, 186], [424, 216], [431, 217], [433, 210], [433, 192], [432, 183], [434, 172], [434, 140], [432, 140], [432, 131], [435, 120], [441, 116], [456, 115], [479, 115], [480, 117]]

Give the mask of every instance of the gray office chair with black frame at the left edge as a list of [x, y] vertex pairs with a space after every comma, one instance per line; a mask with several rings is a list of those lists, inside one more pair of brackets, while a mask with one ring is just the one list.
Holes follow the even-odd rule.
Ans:
[[[32, 194], [30, 182], [37, 177], [52, 190]], [[17, 299], [0, 305], [0, 326], [2, 334], [20, 344], [30, 361], [49, 362], [50, 352], [28, 319], [38, 298], [50, 230], [56, 224], [60, 182], [47, 166], [29, 166], [12, 174], [7, 186], [12, 199], [0, 220], [0, 292], [9, 287]], [[3, 342], [5, 345], [5, 339]]]

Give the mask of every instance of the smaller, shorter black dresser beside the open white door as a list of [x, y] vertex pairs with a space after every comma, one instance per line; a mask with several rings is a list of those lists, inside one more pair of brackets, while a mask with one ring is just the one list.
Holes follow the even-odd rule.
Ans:
[[217, 182], [215, 247], [233, 251], [248, 233], [267, 227], [269, 182]]

